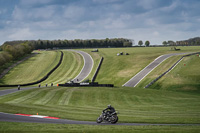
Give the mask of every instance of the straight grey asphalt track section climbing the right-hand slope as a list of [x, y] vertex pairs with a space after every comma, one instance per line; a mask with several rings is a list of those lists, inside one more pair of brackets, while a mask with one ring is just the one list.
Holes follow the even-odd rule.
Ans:
[[173, 53], [159, 56], [153, 62], [151, 62], [148, 66], [146, 66], [143, 70], [133, 76], [128, 82], [126, 82], [123, 86], [126, 87], [135, 87], [143, 78], [145, 78], [151, 71], [153, 71], [158, 65], [160, 65], [167, 58], [175, 55], [184, 55], [188, 53]]

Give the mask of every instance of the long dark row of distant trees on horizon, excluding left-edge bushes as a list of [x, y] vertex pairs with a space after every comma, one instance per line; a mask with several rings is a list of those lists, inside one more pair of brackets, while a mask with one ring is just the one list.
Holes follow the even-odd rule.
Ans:
[[28, 42], [34, 49], [53, 49], [53, 48], [95, 48], [95, 47], [131, 47], [132, 41], [124, 38], [113, 39], [90, 39], [90, 40], [26, 40], [26, 41], [7, 41], [4, 44], [15, 45]]

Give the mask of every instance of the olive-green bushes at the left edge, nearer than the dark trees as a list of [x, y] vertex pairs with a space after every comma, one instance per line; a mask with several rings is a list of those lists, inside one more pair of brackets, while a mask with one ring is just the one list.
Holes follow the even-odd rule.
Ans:
[[21, 44], [4, 44], [1, 46], [0, 51], [0, 66], [4, 64], [19, 59], [33, 51], [33, 46], [24, 42]]

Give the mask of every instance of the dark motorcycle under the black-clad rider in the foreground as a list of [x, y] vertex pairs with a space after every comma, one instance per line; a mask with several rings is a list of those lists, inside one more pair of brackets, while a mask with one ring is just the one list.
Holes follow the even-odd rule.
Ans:
[[103, 121], [105, 122], [110, 122], [112, 124], [115, 124], [118, 122], [118, 112], [113, 112], [112, 114], [108, 114], [107, 112], [102, 112], [102, 114], [97, 118], [96, 122], [101, 123]]

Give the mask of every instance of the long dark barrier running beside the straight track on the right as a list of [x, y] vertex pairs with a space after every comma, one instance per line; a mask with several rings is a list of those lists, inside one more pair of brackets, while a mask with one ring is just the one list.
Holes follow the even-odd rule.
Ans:
[[153, 85], [156, 81], [158, 81], [160, 78], [162, 78], [165, 74], [167, 74], [168, 72], [170, 72], [184, 57], [187, 56], [191, 56], [191, 55], [195, 55], [195, 54], [200, 54], [200, 52], [197, 53], [191, 53], [191, 54], [187, 54], [182, 56], [174, 65], [172, 65], [172, 67], [170, 67], [166, 72], [164, 72], [163, 74], [161, 74], [160, 76], [158, 76], [156, 79], [154, 79], [153, 81], [151, 81], [148, 85], [146, 85], [144, 88], [149, 88], [151, 85]]

